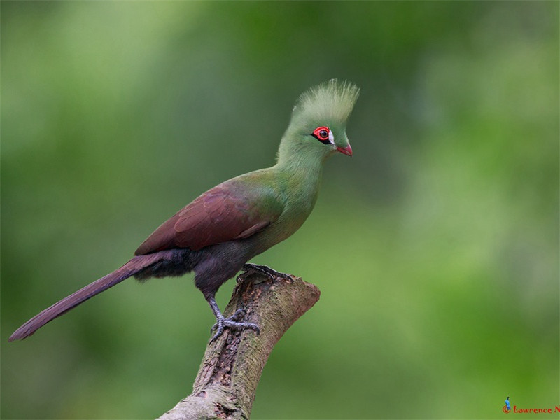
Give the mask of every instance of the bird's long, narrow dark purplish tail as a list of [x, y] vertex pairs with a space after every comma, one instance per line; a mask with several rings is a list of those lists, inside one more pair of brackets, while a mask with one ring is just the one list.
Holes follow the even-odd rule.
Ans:
[[102, 293], [102, 291], [115, 286], [117, 283], [128, 279], [130, 276], [134, 276], [134, 274], [149, 265], [154, 264], [155, 262], [167, 259], [169, 257], [169, 255], [167, 255], [168, 253], [168, 251], [161, 251], [148, 255], [139, 255], [132, 258], [132, 260], [123, 265], [123, 267], [120, 267], [111, 274], [107, 274], [101, 279], [88, 284], [77, 292], [64, 297], [64, 299], [31, 318], [20, 328], [15, 330], [8, 339], [8, 342], [14, 341], [15, 339], [24, 339], [25, 337], [29, 337], [29, 335], [33, 334], [36, 330], [45, 325], [45, 323], [48, 323], [58, 316], [65, 314], [70, 309], [77, 307], [78, 304], [90, 299], [90, 297], [94, 297], [98, 293]]

